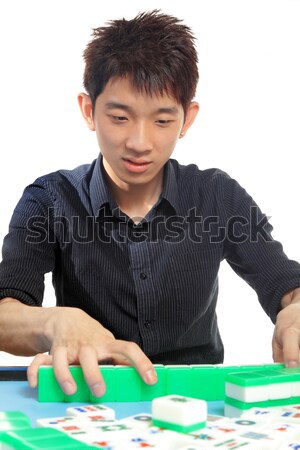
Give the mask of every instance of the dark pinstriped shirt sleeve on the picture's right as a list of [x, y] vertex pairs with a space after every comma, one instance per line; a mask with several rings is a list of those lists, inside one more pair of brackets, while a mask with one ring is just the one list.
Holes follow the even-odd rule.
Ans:
[[300, 286], [300, 265], [286, 256], [281, 243], [272, 237], [268, 217], [234, 179], [219, 173], [216, 182], [225, 229], [224, 256], [256, 291], [275, 323], [283, 295]]

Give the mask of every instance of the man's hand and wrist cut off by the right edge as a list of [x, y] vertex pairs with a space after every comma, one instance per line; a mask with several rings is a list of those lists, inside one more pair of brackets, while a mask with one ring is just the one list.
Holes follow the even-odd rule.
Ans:
[[282, 298], [273, 334], [273, 359], [286, 367], [300, 366], [300, 288]]

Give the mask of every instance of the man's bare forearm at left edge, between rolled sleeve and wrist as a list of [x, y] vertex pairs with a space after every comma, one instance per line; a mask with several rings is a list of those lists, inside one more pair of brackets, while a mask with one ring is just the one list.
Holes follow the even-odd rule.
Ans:
[[32, 356], [49, 350], [45, 336], [53, 308], [27, 306], [13, 298], [0, 301], [0, 350]]

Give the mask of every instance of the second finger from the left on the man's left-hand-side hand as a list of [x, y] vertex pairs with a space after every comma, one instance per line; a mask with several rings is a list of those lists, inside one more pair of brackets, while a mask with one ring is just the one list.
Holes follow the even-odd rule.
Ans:
[[52, 352], [54, 375], [67, 395], [75, 394], [76, 383], [71, 375], [68, 363], [68, 353], [66, 347], [56, 347]]

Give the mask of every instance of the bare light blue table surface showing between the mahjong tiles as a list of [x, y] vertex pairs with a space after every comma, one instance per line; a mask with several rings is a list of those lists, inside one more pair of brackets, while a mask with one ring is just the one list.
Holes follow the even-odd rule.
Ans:
[[[30, 417], [33, 427], [36, 426], [36, 420], [38, 418], [64, 416], [68, 407], [84, 404], [86, 403], [38, 402], [37, 389], [30, 388], [27, 381], [1, 381], [0, 371], [0, 411], [21, 411]], [[103, 404], [115, 409], [117, 419], [138, 413], [151, 413], [151, 402], [115, 402]], [[208, 412], [209, 414], [223, 415], [223, 402], [208, 402]]]

